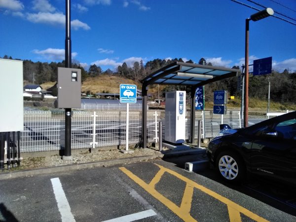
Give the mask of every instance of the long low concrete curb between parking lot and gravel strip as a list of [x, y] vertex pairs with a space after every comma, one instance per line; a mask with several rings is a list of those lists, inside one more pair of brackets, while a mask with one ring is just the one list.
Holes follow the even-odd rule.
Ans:
[[136, 156], [136, 157], [130, 157], [130, 158], [104, 160], [100, 162], [55, 166], [50, 168], [41, 168], [41, 169], [34, 169], [34, 170], [21, 170], [21, 171], [9, 172], [9, 173], [0, 173], [0, 180], [14, 179], [19, 177], [32, 177], [32, 176], [37, 176], [42, 174], [69, 172], [69, 171], [82, 170], [82, 169], [91, 169], [91, 168], [102, 167], [102, 166], [114, 166], [114, 165], [126, 164], [131, 162], [148, 161], [148, 160], [153, 160], [153, 159], [162, 158], [162, 157], [163, 157], [163, 154], [157, 154], [157, 155], [151, 155], [151, 156]]

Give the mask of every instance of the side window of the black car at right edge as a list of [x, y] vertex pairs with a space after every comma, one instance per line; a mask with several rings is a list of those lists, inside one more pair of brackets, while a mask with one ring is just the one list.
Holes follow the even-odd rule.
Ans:
[[296, 140], [296, 119], [289, 119], [278, 123], [275, 130], [284, 139]]

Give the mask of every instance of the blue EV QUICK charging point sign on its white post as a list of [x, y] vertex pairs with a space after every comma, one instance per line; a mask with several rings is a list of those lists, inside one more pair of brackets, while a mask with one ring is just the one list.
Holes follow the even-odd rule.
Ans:
[[137, 86], [120, 84], [120, 103], [126, 103], [126, 148], [128, 151], [129, 104], [137, 102]]

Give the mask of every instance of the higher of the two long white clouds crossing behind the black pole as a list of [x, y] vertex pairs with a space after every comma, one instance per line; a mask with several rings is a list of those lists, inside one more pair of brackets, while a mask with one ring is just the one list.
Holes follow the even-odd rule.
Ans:
[[[38, 12], [36, 13], [28, 13], [27, 19], [33, 23], [43, 23], [49, 25], [65, 25], [66, 18], [63, 13], [49, 13], [49, 12]], [[78, 30], [82, 28], [84, 30], [89, 30], [90, 27], [83, 22], [75, 19], [71, 21], [71, 26], [74, 30]]]

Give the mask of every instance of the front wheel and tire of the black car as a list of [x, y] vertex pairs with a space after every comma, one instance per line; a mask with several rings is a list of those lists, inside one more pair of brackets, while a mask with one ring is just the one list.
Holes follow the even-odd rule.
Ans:
[[232, 151], [222, 151], [216, 159], [219, 175], [226, 182], [237, 184], [245, 177], [245, 164], [241, 157]]

